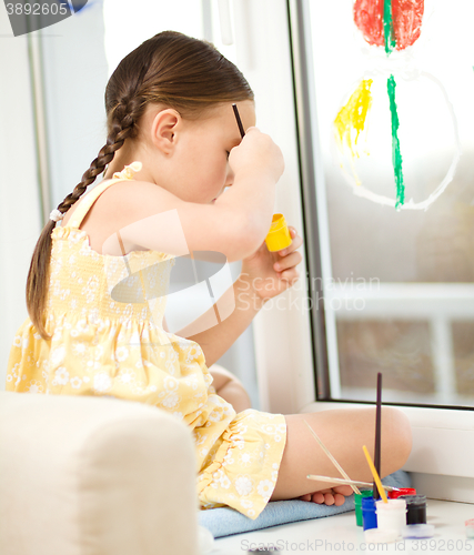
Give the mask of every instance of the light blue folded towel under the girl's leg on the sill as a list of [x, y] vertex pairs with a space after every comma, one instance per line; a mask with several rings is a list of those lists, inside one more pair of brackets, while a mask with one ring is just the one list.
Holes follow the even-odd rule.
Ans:
[[[384, 477], [382, 483], [394, 487], [410, 487], [411, 484], [410, 475], [403, 471]], [[219, 507], [200, 511], [199, 524], [211, 531], [214, 537], [223, 537], [290, 522], [337, 515], [347, 511], [354, 511], [353, 495], [346, 497], [344, 504], [339, 507], [301, 500], [272, 501], [254, 521], [233, 508]]]

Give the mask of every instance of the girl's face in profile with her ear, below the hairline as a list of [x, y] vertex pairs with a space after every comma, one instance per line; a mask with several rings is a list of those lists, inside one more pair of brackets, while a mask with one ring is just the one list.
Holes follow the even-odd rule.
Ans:
[[[245, 100], [236, 105], [243, 129], [254, 125], [253, 101]], [[167, 121], [165, 113], [161, 118]], [[153, 131], [153, 140], [161, 137], [154, 145], [162, 147], [159, 165], [153, 171], [158, 185], [184, 201], [201, 204], [212, 203], [232, 185], [234, 174], [228, 162], [229, 152], [242, 139], [231, 102], [219, 104], [199, 120], [179, 117], [178, 121], [170, 120], [168, 127], [165, 123], [160, 125], [155, 123]]]

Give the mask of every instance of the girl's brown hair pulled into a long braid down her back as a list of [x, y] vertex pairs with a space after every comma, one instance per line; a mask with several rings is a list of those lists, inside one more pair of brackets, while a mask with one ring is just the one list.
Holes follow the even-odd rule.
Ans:
[[[110, 77], [105, 88], [105, 145], [57, 210], [64, 214], [105, 171], [125, 140], [138, 137], [148, 104], [162, 104], [183, 118], [199, 119], [220, 102], [243, 100], [253, 100], [252, 89], [213, 44], [174, 31], [155, 34], [130, 52]], [[54, 226], [53, 220], [44, 225], [27, 280], [28, 313], [46, 341], [51, 340], [46, 330], [46, 306]]]

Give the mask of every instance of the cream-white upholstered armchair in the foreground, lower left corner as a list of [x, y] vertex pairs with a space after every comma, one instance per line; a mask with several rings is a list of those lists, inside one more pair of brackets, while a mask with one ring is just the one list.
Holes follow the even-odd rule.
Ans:
[[112, 397], [0, 392], [2, 555], [198, 555], [190, 430]]

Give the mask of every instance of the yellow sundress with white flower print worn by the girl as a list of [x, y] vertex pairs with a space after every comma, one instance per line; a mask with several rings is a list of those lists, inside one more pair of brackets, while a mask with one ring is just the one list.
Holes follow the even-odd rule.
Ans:
[[[7, 391], [111, 396], [170, 412], [193, 431], [201, 508], [230, 506], [256, 518], [276, 483], [284, 416], [236, 414], [215, 394], [200, 345], [163, 330], [173, 255], [99, 254], [80, 229], [103, 191], [133, 179], [135, 164], [99, 183], [78, 201], [68, 225], [53, 229], [46, 309], [52, 337], [44, 341], [26, 319], [11, 347]], [[118, 302], [111, 292], [123, 280], [130, 297]], [[157, 289], [163, 294], [147, 300]]]

